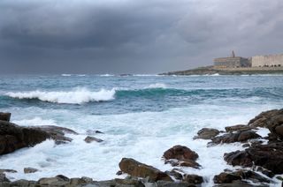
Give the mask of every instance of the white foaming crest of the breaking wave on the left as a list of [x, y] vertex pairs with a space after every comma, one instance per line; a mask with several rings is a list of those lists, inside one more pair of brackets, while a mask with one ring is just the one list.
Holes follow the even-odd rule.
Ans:
[[5, 95], [17, 99], [39, 99], [56, 103], [81, 104], [89, 101], [110, 101], [114, 99], [115, 89], [101, 89], [98, 92], [89, 91], [87, 88], [75, 88], [73, 91], [30, 91], [30, 92], [9, 92]]

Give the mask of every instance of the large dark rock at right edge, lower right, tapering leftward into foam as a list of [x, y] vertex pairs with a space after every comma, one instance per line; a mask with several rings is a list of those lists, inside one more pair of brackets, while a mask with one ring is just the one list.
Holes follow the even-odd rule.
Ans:
[[224, 160], [233, 166], [269, 169], [274, 174], [283, 174], [283, 142], [256, 145], [243, 151], [225, 153]]

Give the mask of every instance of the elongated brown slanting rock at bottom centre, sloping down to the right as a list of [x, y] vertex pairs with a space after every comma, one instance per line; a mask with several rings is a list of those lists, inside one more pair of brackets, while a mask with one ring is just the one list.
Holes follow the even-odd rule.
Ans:
[[121, 171], [131, 176], [142, 178], [149, 177], [149, 181], [172, 181], [172, 178], [170, 176], [158, 170], [157, 168], [153, 168], [152, 166], [148, 166], [130, 158], [123, 158], [119, 162], [119, 168], [121, 169]]

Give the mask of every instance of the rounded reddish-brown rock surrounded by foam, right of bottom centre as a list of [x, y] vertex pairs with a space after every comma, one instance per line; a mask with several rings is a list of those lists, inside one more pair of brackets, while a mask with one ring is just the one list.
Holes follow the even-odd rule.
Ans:
[[187, 146], [173, 146], [164, 152], [163, 157], [165, 160], [176, 159], [178, 161], [195, 161], [198, 158], [198, 154], [187, 148]]

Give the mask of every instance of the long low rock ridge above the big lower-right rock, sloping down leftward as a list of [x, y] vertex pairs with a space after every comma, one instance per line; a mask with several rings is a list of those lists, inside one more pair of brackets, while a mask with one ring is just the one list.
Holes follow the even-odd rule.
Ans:
[[249, 139], [261, 138], [255, 131], [237, 131], [234, 133], [226, 133], [222, 136], [212, 138], [209, 142], [209, 146], [221, 144], [221, 143], [234, 143], [234, 142], [246, 142]]

